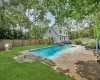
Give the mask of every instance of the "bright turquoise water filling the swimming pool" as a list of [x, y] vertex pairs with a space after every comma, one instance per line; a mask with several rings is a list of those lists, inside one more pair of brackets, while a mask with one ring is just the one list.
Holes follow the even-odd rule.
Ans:
[[52, 46], [52, 47], [47, 47], [47, 48], [31, 50], [30, 52], [31, 52], [31, 54], [42, 56], [44, 58], [54, 59], [57, 56], [69, 51], [70, 48], [71, 48], [71, 45], [67, 45], [67, 46]]

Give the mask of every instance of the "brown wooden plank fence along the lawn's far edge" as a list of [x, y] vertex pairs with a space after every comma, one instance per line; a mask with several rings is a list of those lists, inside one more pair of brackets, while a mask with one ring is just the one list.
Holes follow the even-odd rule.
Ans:
[[0, 50], [5, 49], [5, 44], [9, 44], [10, 47], [17, 46], [28, 46], [28, 45], [37, 45], [37, 44], [49, 44], [53, 43], [52, 40], [0, 40]]

